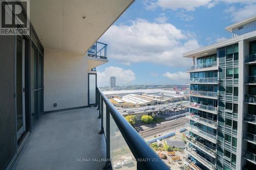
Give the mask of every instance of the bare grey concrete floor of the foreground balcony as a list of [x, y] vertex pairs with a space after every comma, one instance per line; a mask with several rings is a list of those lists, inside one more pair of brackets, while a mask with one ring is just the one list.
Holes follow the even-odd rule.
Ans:
[[97, 107], [48, 113], [41, 117], [14, 169], [102, 169], [105, 158]]

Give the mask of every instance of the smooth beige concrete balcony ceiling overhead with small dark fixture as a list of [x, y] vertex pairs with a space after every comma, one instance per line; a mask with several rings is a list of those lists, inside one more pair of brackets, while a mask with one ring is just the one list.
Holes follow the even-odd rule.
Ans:
[[30, 19], [45, 48], [84, 54], [134, 0], [31, 0]]

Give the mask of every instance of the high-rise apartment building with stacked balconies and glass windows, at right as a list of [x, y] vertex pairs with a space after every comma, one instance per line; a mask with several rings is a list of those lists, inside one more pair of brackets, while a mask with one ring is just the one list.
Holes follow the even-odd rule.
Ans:
[[232, 38], [191, 58], [185, 159], [191, 169], [256, 168], [256, 16], [225, 28]]

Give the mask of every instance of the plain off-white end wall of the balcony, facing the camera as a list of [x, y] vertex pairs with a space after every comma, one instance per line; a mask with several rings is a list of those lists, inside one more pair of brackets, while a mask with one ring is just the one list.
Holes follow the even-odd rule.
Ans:
[[[57, 107], [53, 104], [57, 103]], [[88, 105], [87, 57], [45, 49], [44, 111]]]

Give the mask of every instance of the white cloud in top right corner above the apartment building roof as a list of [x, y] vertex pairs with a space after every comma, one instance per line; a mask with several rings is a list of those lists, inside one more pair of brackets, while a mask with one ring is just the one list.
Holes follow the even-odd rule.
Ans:
[[256, 15], [256, 4], [245, 5], [243, 8], [236, 9], [235, 7], [230, 7], [225, 10], [229, 14], [232, 21], [237, 22], [248, 18], [250, 16]]

